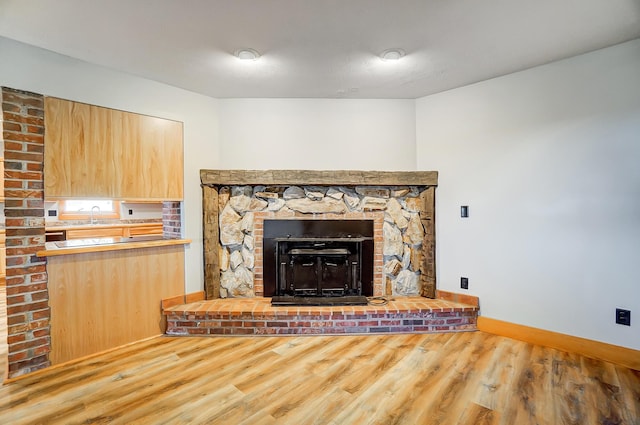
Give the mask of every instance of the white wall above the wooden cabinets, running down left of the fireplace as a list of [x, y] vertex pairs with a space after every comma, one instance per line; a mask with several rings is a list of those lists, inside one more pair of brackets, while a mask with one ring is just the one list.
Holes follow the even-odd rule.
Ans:
[[217, 168], [218, 101], [0, 37], [0, 85], [184, 123], [186, 291], [203, 287], [199, 170]]

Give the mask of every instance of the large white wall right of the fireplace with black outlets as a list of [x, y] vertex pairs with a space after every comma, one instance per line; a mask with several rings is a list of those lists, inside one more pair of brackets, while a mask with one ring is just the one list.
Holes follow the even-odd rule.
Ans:
[[640, 40], [416, 108], [438, 286], [466, 276], [484, 316], [640, 349]]

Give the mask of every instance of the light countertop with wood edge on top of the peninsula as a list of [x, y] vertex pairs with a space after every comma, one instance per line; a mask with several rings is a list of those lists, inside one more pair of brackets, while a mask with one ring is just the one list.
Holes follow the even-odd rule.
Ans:
[[45, 243], [45, 249], [36, 252], [36, 255], [38, 257], [53, 257], [57, 255], [83, 254], [89, 252], [187, 245], [190, 243], [191, 239], [170, 239], [162, 235], [71, 239], [67, 241], [47, 242]]

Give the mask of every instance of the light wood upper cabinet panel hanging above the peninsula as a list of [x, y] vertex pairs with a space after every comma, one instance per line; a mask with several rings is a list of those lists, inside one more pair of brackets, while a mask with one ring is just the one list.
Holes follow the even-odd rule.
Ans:
[[183, 199], [182, 123], [45, 98], [47, 198]]

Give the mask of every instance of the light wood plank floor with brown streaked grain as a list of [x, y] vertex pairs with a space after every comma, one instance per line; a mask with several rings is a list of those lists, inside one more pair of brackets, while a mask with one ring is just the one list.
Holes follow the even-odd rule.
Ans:
[[483, 332], [158, 337], [0, 388], [2, 424], [640, 424], [640, 372]]

